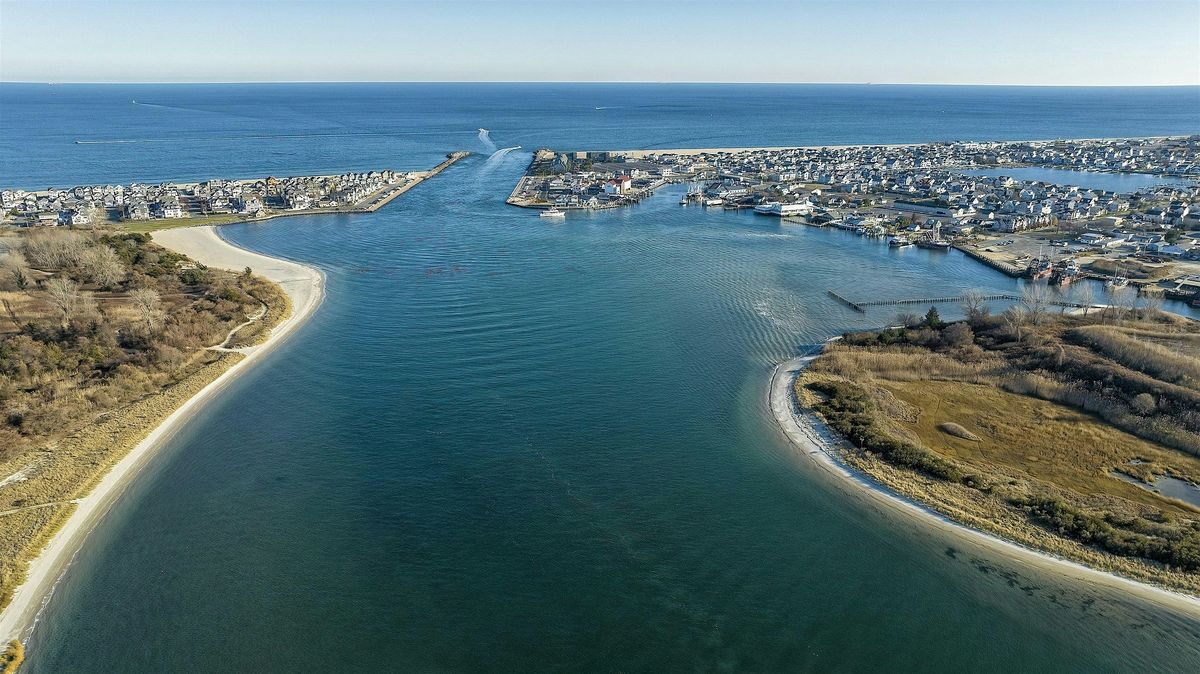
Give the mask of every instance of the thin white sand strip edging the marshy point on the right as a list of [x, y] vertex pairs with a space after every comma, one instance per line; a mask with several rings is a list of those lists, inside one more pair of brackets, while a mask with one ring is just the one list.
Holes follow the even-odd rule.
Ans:
[[816, 357], [817, 355], [798, 356], [779, 363], [772, 372], [768, 390], [768, 404], [780, 432], [787, 437], [797, 450], [806, 455], [816, 468], [842, 481], [857, 491], [864, 499], [886, 506], [912, 519], [920, 520], [922, 524], [956, 536], [970, 537], [972, 541], [983, 544], [997, 554], [1020, 558], [1022, 561], [1044, 571], [1121, 590], [1154, 604], [1186, 613], [1193, 618], [1200, 618], [1200, 597], [1092, 568], [1085, 564], [1036, 550], [986, 531], [960, 524], [929, 505], [899, 494], [872, 477], [847, 465], [833, 450], [833, 445], [841, 440], [833, 431], [829, 431], [823, 423], [816, 420], [811, 413], [803, 413], [797, 407], [798, 403], [792, 390], [793, 381], [797, 374], [816, 360]]

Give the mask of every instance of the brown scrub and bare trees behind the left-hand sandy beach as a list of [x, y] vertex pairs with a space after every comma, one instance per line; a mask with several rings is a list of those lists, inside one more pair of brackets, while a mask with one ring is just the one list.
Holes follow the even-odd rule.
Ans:
[[[121, 457], [290, 311], [144, 234], [28, 233], [0, 258], [0, 607]], [[263, 307], [266, 306], [264, 314]], [[254, 315], [258, 320], [246, 324]]]

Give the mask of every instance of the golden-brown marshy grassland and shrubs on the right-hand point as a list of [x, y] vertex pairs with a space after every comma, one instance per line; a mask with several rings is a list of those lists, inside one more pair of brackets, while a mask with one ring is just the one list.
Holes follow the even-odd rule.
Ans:
[[1200, 327], [1153, 311], [966, 321], [829, 344], [797, 395], [845, 458], [972, 526], [1175, 589], [1200, 591], [1200, 508], [1118, 479], [1200, 483]]

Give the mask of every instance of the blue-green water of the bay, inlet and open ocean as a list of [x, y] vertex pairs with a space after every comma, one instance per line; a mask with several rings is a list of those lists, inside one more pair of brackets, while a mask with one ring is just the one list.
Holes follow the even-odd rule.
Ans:
[[480, 152], [376, 213], [222, 230], [326, 301], [114, 506], [28, 669], [1195, 670], [1195, 621], [877, 512], [772, 421], [775, 362], [890, 318], [827, 289], [1016, 282], [671, 189], [503, 203], [538, 146], [1195, 132], [1195, 88], [0, 85], [2, 186]]

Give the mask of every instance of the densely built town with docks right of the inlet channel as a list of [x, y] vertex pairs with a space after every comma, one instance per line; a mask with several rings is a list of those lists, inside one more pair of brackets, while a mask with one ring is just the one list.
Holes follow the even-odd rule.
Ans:
[[[1039, 180], [1006, 171], [1046, 169]], [[1054, 170], [1056, 169], [1056, 170]], [[1016, 171], [1019, 173], [1019, 171]], [[1148, 177], [1135, 189], [1070, 185]], [[1054, 181], [1051, 181], [1054, 179]], [[509, 198], [563, 217], [686, 183], [682, 205], [959, 248], [1010, 276], [1200, 293], [1200, 136], [745, 150], [539, 150]]]

